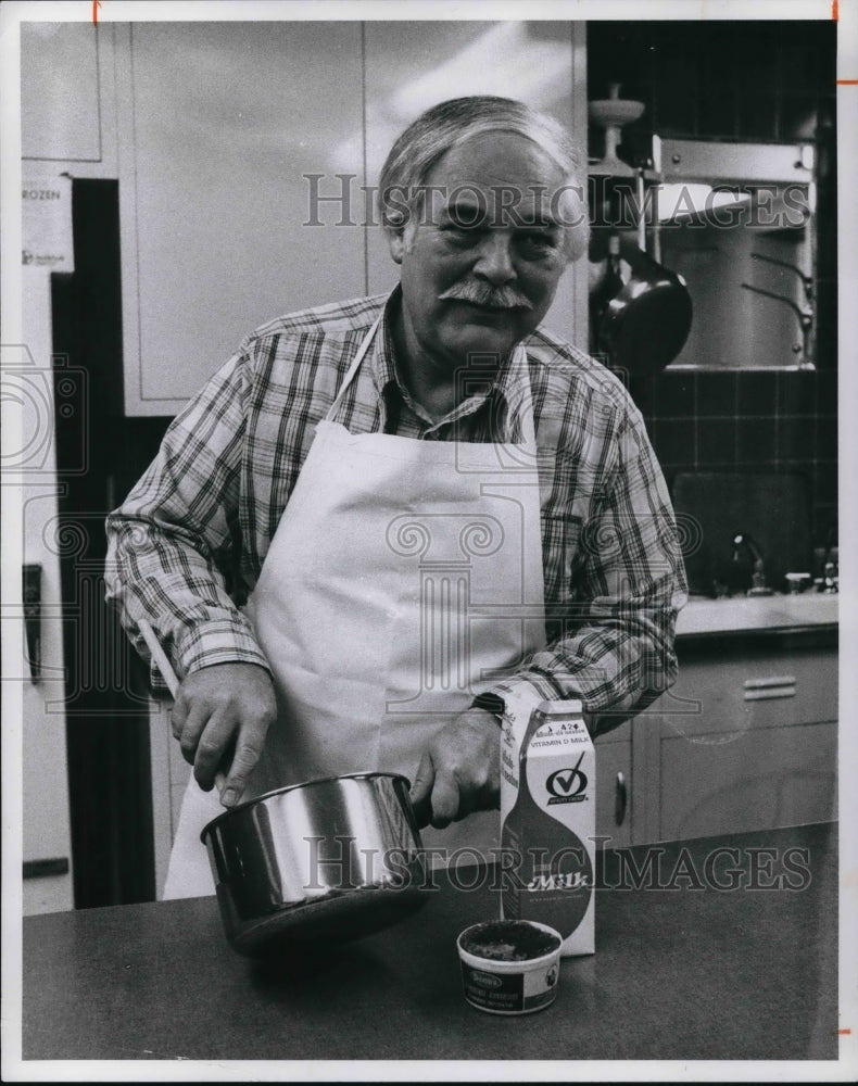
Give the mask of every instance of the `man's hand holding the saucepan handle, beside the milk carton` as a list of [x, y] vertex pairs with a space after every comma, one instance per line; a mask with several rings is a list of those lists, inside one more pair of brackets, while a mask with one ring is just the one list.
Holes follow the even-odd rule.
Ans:
[[487, 709], [468, 709], [442, 729], [424, 752], [412, 786], [420, 829], [441, 830], [472, 811], [499, 806], [501, 728]]

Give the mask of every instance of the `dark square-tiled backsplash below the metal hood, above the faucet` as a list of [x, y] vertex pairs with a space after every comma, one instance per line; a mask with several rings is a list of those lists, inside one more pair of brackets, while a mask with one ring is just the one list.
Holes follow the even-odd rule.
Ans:
[[799, 472], [815, 544], [836, 533], [835, 371], [668, 368], [636, 399], [668, 485], [678, 471]]

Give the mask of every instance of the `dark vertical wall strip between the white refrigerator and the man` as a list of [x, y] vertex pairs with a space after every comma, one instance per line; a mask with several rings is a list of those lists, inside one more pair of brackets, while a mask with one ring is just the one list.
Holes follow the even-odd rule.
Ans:
[[53, 277], [52, 325], [74, 898], [90, 908], [154, 898], [147, 677], [104, 603], [104, 517], [166, 420], [123, 416], [118, 185], [75, 179], [72, 200], [75, 270]]

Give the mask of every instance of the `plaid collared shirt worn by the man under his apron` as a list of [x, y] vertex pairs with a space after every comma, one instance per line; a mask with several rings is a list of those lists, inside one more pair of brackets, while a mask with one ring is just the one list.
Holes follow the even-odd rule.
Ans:
[[[399, 296], [398, 288], [388, 304]], [[238, 660], [267, 667], [238, 607], [260, 574], [314, 425], [386, 301], [270, 321], [171, 424], [157, 457], [108, 518], [108, 598], [143, 656], [139, 618], [150, 620], [180, 674]], [[640, 413], [610, 372], [543, 329], [525, 348], [548, 644], [493, 690], [503, 696], [525, 681], [543, 697], [582, 697], [591, 712], [640, 709], [673, 682], [685, 599], [667, 488]], [[386, 312], [338, 411], [350, 431], [521, 439], [521, 381], [509, 364], [474, 394], [463, 387], [458, 406], [432, 420], [399, 382], [393, 358]], [[161, 685], [154, 671], [153, 682]]]

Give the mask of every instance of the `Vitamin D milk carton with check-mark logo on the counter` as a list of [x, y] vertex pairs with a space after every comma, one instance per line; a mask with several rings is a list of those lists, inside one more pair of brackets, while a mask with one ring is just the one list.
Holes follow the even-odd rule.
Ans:
[[593, 954], [595, 752], [578, 700], [508, 696], [501, 741], [502, 914]]

